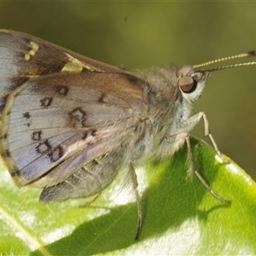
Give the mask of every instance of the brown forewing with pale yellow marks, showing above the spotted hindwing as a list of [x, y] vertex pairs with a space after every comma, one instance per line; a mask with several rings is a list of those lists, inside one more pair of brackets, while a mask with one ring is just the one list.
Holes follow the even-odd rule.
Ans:
[[9, 93], [29, 78], [67, 71], [127, 73], [43, 39], [21, 32], [0, 30], [0, 113]]

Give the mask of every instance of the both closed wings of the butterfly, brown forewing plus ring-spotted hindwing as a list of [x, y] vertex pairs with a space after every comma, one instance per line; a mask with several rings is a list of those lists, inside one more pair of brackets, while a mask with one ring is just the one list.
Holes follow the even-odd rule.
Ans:
[[143, 82], [20, 32], [0, 32], [0, 150], [19, 185], [53, 186], [118, 148]]

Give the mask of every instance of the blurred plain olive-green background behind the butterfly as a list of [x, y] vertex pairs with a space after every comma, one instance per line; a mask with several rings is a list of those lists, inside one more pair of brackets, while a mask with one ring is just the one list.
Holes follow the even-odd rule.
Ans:
[[[256, 49], [255, 10], [256, 3], [249, 2], [2, 2], [0, 26], [136, 70], [199, 64]], [[254, 179], [255, 73], [256, 66], [212, 73], [195, 102], [196, 111], [207, 113], [221, 152]], [[203, 138], [202, 127], [193, 135]]]

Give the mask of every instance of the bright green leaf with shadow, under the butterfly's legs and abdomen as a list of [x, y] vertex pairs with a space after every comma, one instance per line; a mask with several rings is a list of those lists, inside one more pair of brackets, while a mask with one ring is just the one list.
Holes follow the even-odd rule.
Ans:
[[41, 204], [40, 189], [19, 189], [2, 171], [0, 253], [255, 254], [255, 183], [231, 160], [218, 161], [206, 143], [192, 143], [198, 172], [231, 205], [213, 197], [197, 177], [187, 177], [186, 147], [171, 160], [137, 169], [143, 207], [138, 241], [137, 206], [131, 189], [121, 189], [123, 172], [89, 207], [79, 207], [84, 199]]

